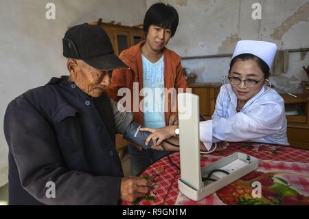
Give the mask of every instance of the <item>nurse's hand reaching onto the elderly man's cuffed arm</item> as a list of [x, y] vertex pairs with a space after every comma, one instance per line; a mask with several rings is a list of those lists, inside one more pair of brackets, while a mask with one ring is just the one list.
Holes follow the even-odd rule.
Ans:
[[159, 144], [164, 141], [165, 139], [169, 139], [170, 137], [175, 136], [175, 129], [176, 126], [166, 126], [163, 128], [141, 128], [141, 131], [148, 131], [151, 132], [146, 139], [145, 143], [148, 145], [150, 140], [152, 140], [154, 146], [159, 146]]

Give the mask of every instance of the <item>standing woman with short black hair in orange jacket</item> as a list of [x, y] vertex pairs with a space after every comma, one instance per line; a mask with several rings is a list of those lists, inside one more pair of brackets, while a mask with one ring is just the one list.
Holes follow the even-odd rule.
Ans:
[[[122, 51], [119, 58], [128, 68], [113, 71], [111, 85], [105, 90], [109, 97], [119, 101], [122, 99], [119, 89], [129, 89], [130, 101], [126, 102], [126, 111], [132, 111], [134, 122], [144, 127], [178, 124], [176, 94], [184, 92], [187, 83], [182, 73], [181, 57], [165, 47], [174, 36], [178, 23], [178, 13], [171, 5], [152, 5], [144, 18], [146, 41]], [[171, 95], [167, 91], [171, 91]], [[132, 145], [128, 149], [133, 176], [167, 154], [139, 150]]]

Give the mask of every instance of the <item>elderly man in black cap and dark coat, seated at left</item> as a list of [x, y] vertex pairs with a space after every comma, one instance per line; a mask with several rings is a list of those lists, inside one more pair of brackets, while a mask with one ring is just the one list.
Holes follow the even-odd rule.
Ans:
[[5, 113], [9, 204], [117, 205], [145, 196], [150, 182], [124, 177], [115, 150], [115, 133], [132, 115], [103, 91], [108, 73], [126, 66], [99, 26], [72, 27], [62, 43], [70, 76], [23, 93]]

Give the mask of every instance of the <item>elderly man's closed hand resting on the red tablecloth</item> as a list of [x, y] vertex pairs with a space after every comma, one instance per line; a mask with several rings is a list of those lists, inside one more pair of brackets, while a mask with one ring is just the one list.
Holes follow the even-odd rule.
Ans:
[[122, 178], [120, 198], [124, 201], [134, 202], [139, 197], [144, 197], [150, 192], [151, 181], [146, 178], [128, 176]]

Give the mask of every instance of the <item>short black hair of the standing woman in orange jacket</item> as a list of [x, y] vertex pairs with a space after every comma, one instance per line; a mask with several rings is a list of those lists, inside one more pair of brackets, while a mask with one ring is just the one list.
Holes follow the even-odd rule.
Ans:
[[178, 12], [172, 5], [155, 3], [145, 14], [143, 30], [147, 35], [150, 25], [156, 25], [170, 29], [172, 31], [172, 36], [174, 36], [178, 23]]

